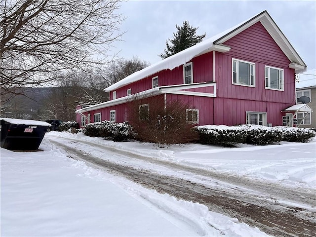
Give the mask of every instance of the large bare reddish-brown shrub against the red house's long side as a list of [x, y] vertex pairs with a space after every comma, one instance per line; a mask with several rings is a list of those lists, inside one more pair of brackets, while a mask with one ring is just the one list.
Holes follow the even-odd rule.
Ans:
[[197, 140], [193, 125], [186, 122], [189, 103], [178, 100], [165, 102], [163, 96], [134, 95], [129, 101], [128, 121], [136, 132], [136, 139], [153, 142], [157, 147]]

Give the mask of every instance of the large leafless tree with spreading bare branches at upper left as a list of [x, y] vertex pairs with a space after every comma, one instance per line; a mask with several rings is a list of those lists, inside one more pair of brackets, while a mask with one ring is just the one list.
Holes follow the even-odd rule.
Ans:
[[105, 63], [121, 36], [120, 1], [1, 0], [1, 93]]

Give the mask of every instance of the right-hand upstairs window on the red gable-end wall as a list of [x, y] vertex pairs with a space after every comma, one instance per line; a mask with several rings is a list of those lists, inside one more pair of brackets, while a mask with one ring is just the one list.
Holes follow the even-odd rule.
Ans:
[[283, 69], [265, 66], [265, 87], [267, 89], [283, 90]]

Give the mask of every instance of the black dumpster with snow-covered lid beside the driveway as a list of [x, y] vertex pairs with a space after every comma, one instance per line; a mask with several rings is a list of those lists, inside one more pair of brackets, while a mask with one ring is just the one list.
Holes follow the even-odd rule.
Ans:
[[47, 122], [0, 118], [1, 147], [8, 150], [37, 150], [51, 125]]

